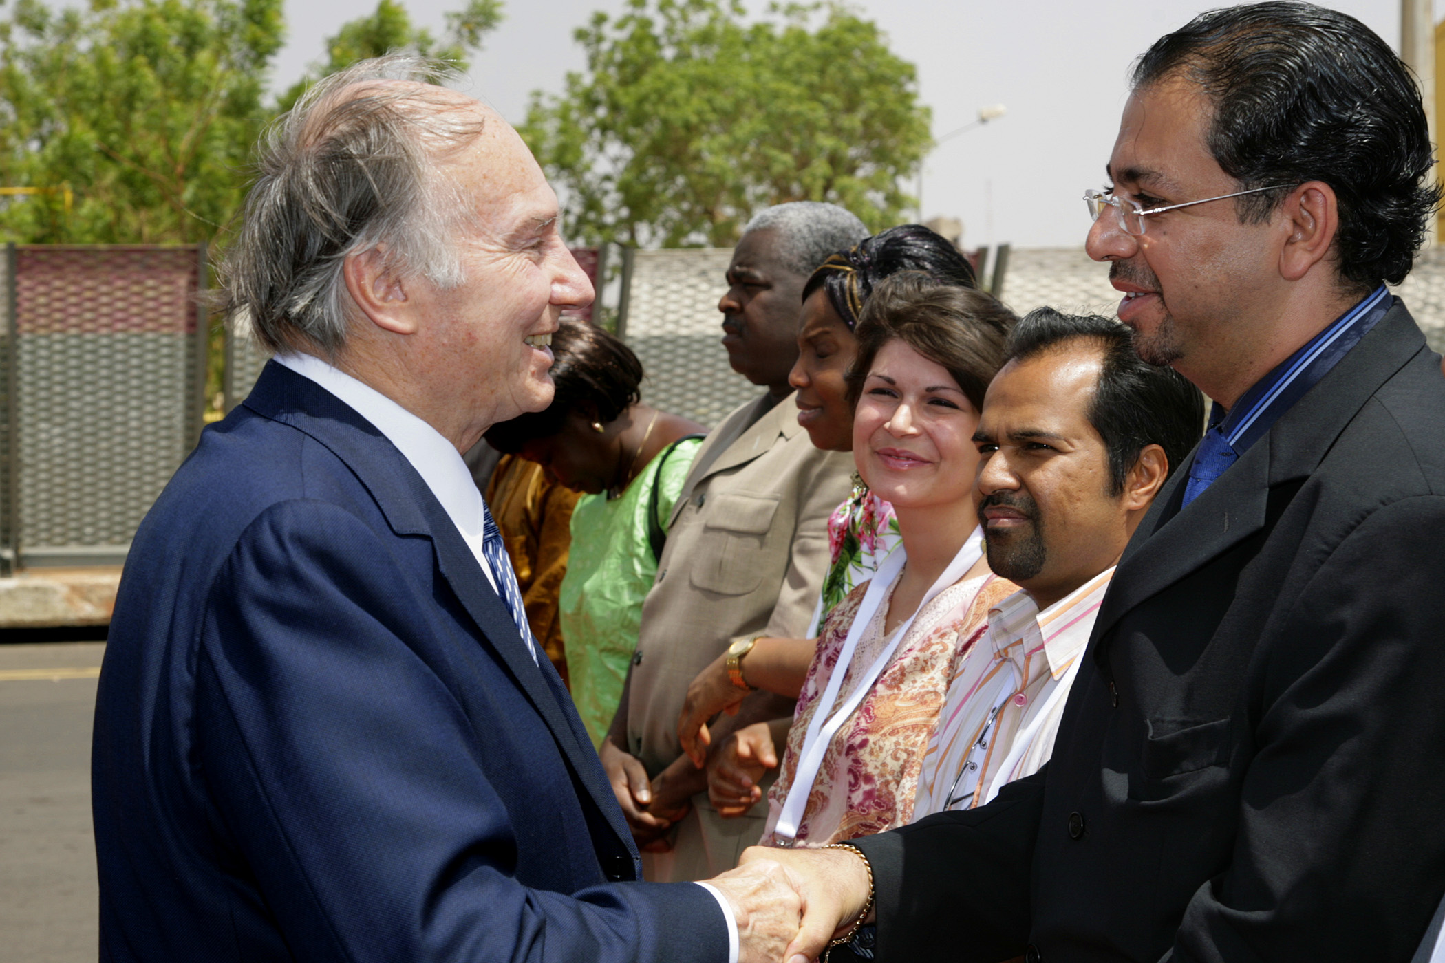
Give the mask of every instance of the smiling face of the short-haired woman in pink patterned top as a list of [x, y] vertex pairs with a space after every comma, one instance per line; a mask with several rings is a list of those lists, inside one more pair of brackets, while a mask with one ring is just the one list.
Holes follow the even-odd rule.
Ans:
[[883, 345], [853, 416], [853, 456], [879, 498], [907, 510], [972, 505], [978, 413], [948, 374], [905, 341]]

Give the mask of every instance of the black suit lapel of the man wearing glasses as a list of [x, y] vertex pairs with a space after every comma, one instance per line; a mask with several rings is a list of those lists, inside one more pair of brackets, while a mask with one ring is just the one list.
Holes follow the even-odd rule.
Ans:
[[1094, 622], [1094, 638], [1103, 638], [1126, 612], [1263, 528], [1270, 488], [1309, 476], [1380, 385], [1423, 348], [1425, 336], [1396, 302], [1264, 437], [1179, 510], [1191, 453], [1124, 549]]

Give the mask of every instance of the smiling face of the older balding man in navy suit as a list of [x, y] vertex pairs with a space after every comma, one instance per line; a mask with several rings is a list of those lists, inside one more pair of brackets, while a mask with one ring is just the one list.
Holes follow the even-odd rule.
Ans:
[[[441, 176], [471, 205], [458, 217], [461, 284], [415, 286], [425, 318], [426, 371], [475, 430], [552, 401], [552, 351], [545, 347], [564, 308], [584, 308], [592, 284], [558, 231], [558, 202], [526, 144], [480, 105], [486, 131], [442, 157]], [[539, 344], [543, 342], [543, 344]]]

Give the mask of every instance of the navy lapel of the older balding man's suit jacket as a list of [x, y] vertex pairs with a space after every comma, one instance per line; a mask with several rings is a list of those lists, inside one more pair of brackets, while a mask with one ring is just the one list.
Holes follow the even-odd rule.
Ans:
[[345, 462], [376, 500], [393, 531], [403, 536], [425, 536], [432, 541], [438, 570], [452, 593], [536, 707], [568, 765], [605, 814], [608, 824], [624, 845], [630, 843], [631, 833], [616, 806], [616, 797], [607, 785], [597, 752], [571, 723], [568, 715], [571, 706], [564, 707], [548, 686], [545, 673], [555, 674], [555, 670], [551, 663], [539, 666], [539, 661], [545, 661], [540, 653], [539, 660], [533, 661], [516, 622], [512, 621], [512, 612], [491, 588], [457, 526], [410, 462], [354, 409], [316, 383], [275, 361], [266, 364], [244, 404], [259, 414], [305, 432]]

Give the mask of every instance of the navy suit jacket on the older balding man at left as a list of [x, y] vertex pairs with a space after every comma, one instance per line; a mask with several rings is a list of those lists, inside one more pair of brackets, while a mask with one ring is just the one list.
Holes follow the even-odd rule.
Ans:
[[422, 478], [275, 362], [136, 534], [92, 791], [101, 960], [727, 959]]

